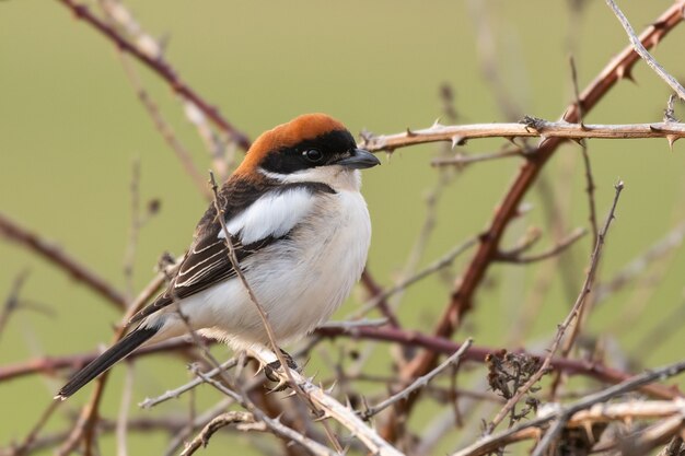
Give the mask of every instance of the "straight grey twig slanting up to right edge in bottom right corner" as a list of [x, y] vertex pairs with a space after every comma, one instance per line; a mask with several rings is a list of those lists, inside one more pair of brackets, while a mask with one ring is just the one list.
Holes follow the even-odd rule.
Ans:
[[[463, 448], [452, 456], [480, 456], [486, 455], [490, 452], [496, 451], [501, 447], [503, 444], [509, 443], [509, 439], [513, 435], [516, 435], [523, 430], [529, 428], [541, 428], [544, 424], [553, 421], [560, 420], [562, 417], [566, 417], [566, 421], [568, 421], [576, 412], [581, 410], [585, 410], [592, 407], [595, 404], [606, 402], [607, 400], [617, 397], [619, 395], [636, 390], [637, 388], [650, 384], [655, 381], [663, 381], [665, 378], [675, 376], [685, 371], [685, 361], [680, 361], [677, 363], [670, 364], [664, 367], [655, 369], [653, 371], [648, 371], [642, 374], [636, 375], [625, 382], [622, 382], [618, 385], [611, 386], [602, 391], [589, 395], [583, 399], [573, 402], [562, 409], [550, 412], [547, 416], [536, 418], [531, 421], [526, 421], [524, 423], [518, 424], [507, 431], [502, 431], [499, 434], [488, 435], [481, 439], [478, 442], [469, 445], [466, 448]], [[526, 439], [530, 439], [526, 437]], [[542, 445], [542, 442], [538, 444]]]

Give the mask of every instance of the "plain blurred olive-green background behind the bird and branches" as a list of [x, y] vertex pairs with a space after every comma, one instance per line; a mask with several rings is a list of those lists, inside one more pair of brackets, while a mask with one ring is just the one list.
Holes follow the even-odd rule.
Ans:
[[[627, 37], [604, 2], [511, 1], [349, 1], [349, 2], [190, 2], [127, 1], [143, 28], [167, 39], [165, 57], [181, 78], [218, 106], [237, 128], [255, 138], [260, 131], [309, 112], [325, 112], [357, 133], [368, 129], [393, 133], [428, 127], [443, 116], [439, 87], [455, 94], [457, 121], [509, 120], [495, 91], [483, 77], [483, 35], [489, 28], [497, 73], [521, 114], [556, 119], [573, 100], [568, 58], [577, 62], [581, 87], [627, 44]], [[641, 31], [671, 2], [624, 1], [622, 8]], [[96, 2], [91, 4], [97, 10]], [[485, 25], [478, 25], [484, 21]], [[655, 50], [676, 77], [685, 74], [685, 27], [677, 27]], [[210, 166], [195, 128], [166, 84], [140, 69], [143, 84], [177, 136], [193, 152], [199, 169]], [[637, 84], [624, 81], [593, 109], [587, 122], [660, 121], [669, 89], [643, 63], [634, 72]], [[683, 109], [677, 114], [682, 117]], [[491, 152], [503, 141], [472, 141], [462, 152]], [[426, 197], [439, 178], [430, 160], [440, 145], [397, 151], [384, 165], [364, 175], [363, 192], [373, 220], [369, 266], [383, 284], [392, 284], [407, 260], [427, 213]], [[626, 184], [616, 224], [609, 233], [601, 278], [608, 279], [685, 219], [685, 147], [674, 153], [665, 140], [601, 141], [589, 144], [601, 220], [613, 198], [613, 185]], [[588, 201], [580, 149], [559, 150], [544, 173], [546, 186], [533, 189], [532, 210], [507, 232], [511, 246], [530, 226], [544, 238], [534, 252], [554, 244], [542, 197], [554, 198], [566, 232], [588, 226]], [[160, 254], [181, 255], [206, 208], [191, 180], [154, 129], [128, 83], [117, 52], [56, 1], [0, 2], [0, 211], [90, 265], [124, 288], [123, 265], [130, 225], [132, 163], [140, 161], [140, 197], [161, 200], [161, 212], [140, 232], [136, 250], [136, 292], [152, 277]], [[458, 173], [437, 207], [434, 232], [419, 264], [428, 265], [450, 247], [480, 231], [519, 167], [515, 160], [481, 163]], [[589, 259], [590, 236], [565, 261], [574, 277], [553, 280], [536, 311], [526, 348], [539, 349], [572, 304]], [[471, 254], [456, 261], [452, 277]], [[119, 315], [100, 296], [31, 253], [0, 238], [0, 300], [21, 271], [30, 276], [21, 296], [54, 312], [18, 312], [0, 334], [0, 364], [43, 354], [90, 351], [111, 339]], [[476, 337], [483, 346], [509, 347], [512, 321], [534, 292], [546, 264], [529, 268], [497, 265], [476, 296], [475, 311], [455, 336]], [[592, 314], [588, 336], [616, 344], [634, 367], [657, 366], [682, 359], [685, 336], [645, 346], [665, 316], [683, 306], [685, 258], [675, 250], [667, 261], [648, 268], [632, 287], [616, 293]], [[411, 329], [428, 330], [440, 315], [449, 283], [432, 278], [410, 289], [400, 318]], [[363, 297], [357, 293], [342, 317]], [[642, 306], [642, 307], [641, 307]], [[629, 328], [629, 329], [627, 329]], [[537, 344], [536, 344], [537, 343]], [[381, 350], [385, 353], [385, 349]], [[228, 356], [228, 351], [219, 351]], [[380, 355], [379, 369], [388, 367]], [[607, 361], [623, 366], [622, 359]], [[313, 360], [316, 363], [316, 360]], [[123, 370], [120, 370], [123, 371]], [[173, 358], [137, 363], [133, 402], [183, 383], [188, 374]], [[385, 371], [387, 372], [387, 371]], [[116, 414], [123, 374], [109, 385], [103, 414]], [[23, 439], [49, 404], [60, 378], [33, 376], [0, 384], [3, 413], [0, 446]], [[82, 394], [69, 409], [88, 400]], [[211, 397], [207, 404], [211, 404]], [[152, 413], [184, 410], [185, 402], [161, 406]], [[135, 405], [133, 405], [135, 408]], [[135, 411], [139, 414], [139, 411]], [[483, 417], [485, 419], [491, 417]], [[54, 419], [57, 431], [63, 421]], [[132, 454], [161, 454], [166, 437], [131, 436]], [[456, 441], [455, 441], [456, 442]], [[454, 443], [454, 442], [453, 442]], [[103, 454], [114, 441], [103, 440]], [[442, 448], [443, 452], [453, 446]], [[204, 454], [223, 454], [210, 444]]]

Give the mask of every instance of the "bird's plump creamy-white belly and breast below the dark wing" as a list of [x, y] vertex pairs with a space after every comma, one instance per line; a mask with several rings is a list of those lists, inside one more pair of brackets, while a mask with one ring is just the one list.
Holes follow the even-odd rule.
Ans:
[[[267, 312], [277, 341], [304, 336], [348, 296], [367, 261], [371, 225], [358, 192], [341, 191], [279, 241], [243, 262], [245, 279]], [[201, 334], [234, 348], [267, 344], [255, 304], [239, 279], [182, 302]]]

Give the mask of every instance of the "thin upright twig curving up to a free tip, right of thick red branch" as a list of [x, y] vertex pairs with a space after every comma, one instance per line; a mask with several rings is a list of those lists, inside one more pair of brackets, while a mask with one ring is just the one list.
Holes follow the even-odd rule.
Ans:
[[554, 341], [552, 342], [552, 346], [549, 347], [549, 352], [547, 353], [547, 356], [545, 356], [545, 361], [543, 361], [543, 364], [541, 365], [541, 367], [537, 370], [535, 374], [531, 376], [531, 378], [521, 388], [519, 388], [519, 390], [511, 397], [511, 399], [507, 401], [507, 405], [502, 407], [502, 409], [497, 413], [497, 416], [495, 416], [492, 421], [488, 424], [488, 428], [486, 431], [487, 434], [491, 433], [492, 430], [495, 430], [495, 428], [504, 419], [504, 417], [507, 417], [507, 414], [515, 407], [519, 400], [521, 400], [523, 395], [526, 394], [531, 389], [531, 387], [535, 385], [542, 378], [542, 376], [547, 373], [547, 369], [550, 365], [552, 358], [556, 354], [559, 344], [561, 343], [561, 339], [564, 338], [564, 335], [566, 332], [566, 329], [569, 327], [571, 321], [573, 321], [578, 317], [578, 314], [585, 302], [585, 297], [590, 293], [590, 290], [594, 282], [594, 276], [596, 272], [597, 265], [600, 262], [602, 247], [604, 246], [604, 239], [608, 232], [608, 227], [612, 221], [614, 220], [614, 211], [616, 210], [616, 204], [618, 204], [618, 198], [620, 197], [620, 192], [624, 189], [623, 182], [618, 182], [618, 184], [616, 184], [615, 186], [615, 189], [616, 189], [616, 194], [614, 196], [614, 202], [612, 203], [612, 208], [609, 209], [608, 215], [606, 217], [606, 221], [604, 222], [604, 227], [602, 229], [602, 232], [600, 233], [600, 236], [597, 237], [597, 244], [594, 247], [594, 252], [592, 253], [592, 258], [590, 260], [590, 269], [588, 270], [585, 281], [582, 285], [580, 294], [578, 295], [578, 299], [576, 300], [576, 303], [573, 304], [573, 307], [571, 308], [571, 312], [568, 314], [564, 323], [559, 325], [557, 335], [555, 336]]

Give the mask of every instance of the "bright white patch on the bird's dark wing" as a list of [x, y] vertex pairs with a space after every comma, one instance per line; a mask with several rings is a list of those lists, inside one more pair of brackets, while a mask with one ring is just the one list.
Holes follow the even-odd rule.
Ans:
[[[243, 245], [268, 236], [281, 237], [294, 227], [314, 207], [311, 190], [294, 187], [278, 194], [267, 194], [249, 208], [228, 221], [229, 233], [239, 235]], [[225, 237], [223, 230], [220, 238]]]

